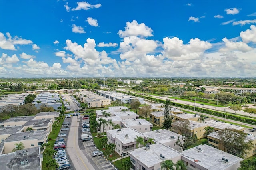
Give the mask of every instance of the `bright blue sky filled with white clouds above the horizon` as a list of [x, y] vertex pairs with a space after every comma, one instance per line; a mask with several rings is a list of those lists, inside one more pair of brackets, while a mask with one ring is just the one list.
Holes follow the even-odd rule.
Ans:
[[256, 77], [256, 1], [0, 0], [0, 77]]

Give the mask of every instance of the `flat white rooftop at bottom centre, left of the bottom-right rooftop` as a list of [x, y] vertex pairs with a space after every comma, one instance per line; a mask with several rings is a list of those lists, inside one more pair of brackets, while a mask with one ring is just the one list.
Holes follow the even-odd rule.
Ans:
[[150, 145], [150, 149], [146, 149], [145, 147], [138, 148], [132, 152], [129, 152], [129, 154], [150, 168], [155, 164], [164, 161], [162, 158], [160, 158], [160, 154], [165, 157], [165, 160], [171, 160], [172, 158], [179, 156], [180, 152], [164, 144], [156, 143]]

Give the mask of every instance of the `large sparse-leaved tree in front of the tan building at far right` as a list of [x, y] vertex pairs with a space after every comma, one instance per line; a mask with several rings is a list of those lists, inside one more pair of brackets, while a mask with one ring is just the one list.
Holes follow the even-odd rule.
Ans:
[[225, 128], [219, 130], [218, 138], [224, 145], [225, 151], [234, 152], [237, 156], [243, 158], [252, 148], [252, 140], [247, 138], [247, 134], [241, 131]]

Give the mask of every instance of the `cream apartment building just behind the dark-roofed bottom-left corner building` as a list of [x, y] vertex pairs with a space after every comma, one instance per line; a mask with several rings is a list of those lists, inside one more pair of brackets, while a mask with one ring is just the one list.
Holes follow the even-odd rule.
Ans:
[[[47, 142], [47, 131], [18, 132], [11, 134], [0, 144], [0, 155], [11, 153], [16, 143], [22, 142], [24, 149], [39, 147]], [[41, 150], [42, 151], [42, 150]]]

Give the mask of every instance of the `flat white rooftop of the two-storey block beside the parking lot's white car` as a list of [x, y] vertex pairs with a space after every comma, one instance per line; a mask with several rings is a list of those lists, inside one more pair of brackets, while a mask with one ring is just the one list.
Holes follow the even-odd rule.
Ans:
[[[107, 130], [107, 132], [110, 133], [113, 138], [117, 138], [118, 140], [120, 140], [123, 144], [135, 142], [134, 139], [136, 138], [136, 136], [144, 136], [142, 133], [132, 128], [121, 128], [121, 131], [117, 130], [118, 129]], [[126, 135], [128, 135], [128, 137]]]

